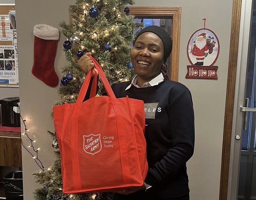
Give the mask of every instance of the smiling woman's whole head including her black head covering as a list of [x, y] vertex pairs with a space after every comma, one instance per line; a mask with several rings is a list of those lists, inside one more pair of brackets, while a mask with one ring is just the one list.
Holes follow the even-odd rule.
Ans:
[[172, 39], [163, 28], [148, 26], [140, 31], [131, 52], [138, 86], [142, 87], [143, 84], [158, 76], [161, 68], [167, 73], [165, 62], [171, 51]]

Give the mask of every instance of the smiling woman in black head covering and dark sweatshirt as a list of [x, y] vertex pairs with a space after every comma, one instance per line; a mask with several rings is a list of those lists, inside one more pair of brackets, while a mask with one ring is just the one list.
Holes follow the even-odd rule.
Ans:
[[[144, 185], [114, 193], [113, 200], [189, 200], [186, 162], [194, 152], [194, 111], [188, 88], [167, 76], [171, 51], [172, 39], [163, 28], [142, 29], [131, 52], [137, 75], [111, 86], [116, 98], [144, 101], [149, 167]], [[88, 55], [78, 60], [86, 74], [95, 67]]]

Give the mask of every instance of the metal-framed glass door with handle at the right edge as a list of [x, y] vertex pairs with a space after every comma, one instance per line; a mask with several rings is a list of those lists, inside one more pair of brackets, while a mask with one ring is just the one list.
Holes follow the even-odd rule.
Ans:
[[[230, 198], [256, 199], [256, 0], [242, 1], [239, 44], [241, 60], [237, 90]], [[235, 97], [236, 98], [236, 97]], [[234, 141], [232, 141], [234, 140]]]

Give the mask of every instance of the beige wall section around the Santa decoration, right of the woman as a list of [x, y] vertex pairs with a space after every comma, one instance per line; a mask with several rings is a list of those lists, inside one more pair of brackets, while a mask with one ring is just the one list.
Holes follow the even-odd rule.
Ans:
[[[180, 63], [179, 82], [192, 93], [195, 110], [196, 143], [193, 157], [189, 160], [188, 176], [191, 200], [219, 199], [223, 125], [228, 76], [228, 56], [232, 18], [232, 0], [214, 2], [198, 0], [137, 0], [135, 6], [180, 6]], [[217, 65], [218, 80], [186, 79], [187, 44], [198, 29], [211, 29], [219, 38], [220, 55]]]

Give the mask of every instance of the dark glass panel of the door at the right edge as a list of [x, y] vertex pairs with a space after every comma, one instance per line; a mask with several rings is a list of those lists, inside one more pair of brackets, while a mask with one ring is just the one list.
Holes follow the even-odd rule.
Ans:
[[[255, 108], [256, 97], [256, 1], [253, 1], [251, 33], [246, 76], [245, 98], [248, 104], [244, 107]], [[256, 112], [245, 112], [247, 122], [242, 130], [240, 172], [238, 182], [238, 200], [256, 199]]]

